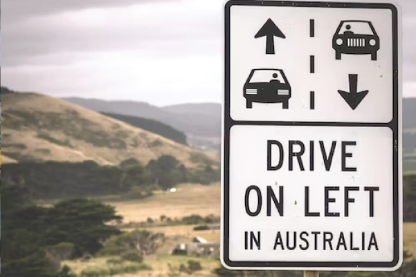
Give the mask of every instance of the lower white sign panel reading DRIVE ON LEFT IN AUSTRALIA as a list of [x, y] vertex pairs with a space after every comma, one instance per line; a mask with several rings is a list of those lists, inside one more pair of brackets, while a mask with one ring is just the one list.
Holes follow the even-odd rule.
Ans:
[[395, 151], [386, 127], [231, 127], [224, 264], [396, 267]]

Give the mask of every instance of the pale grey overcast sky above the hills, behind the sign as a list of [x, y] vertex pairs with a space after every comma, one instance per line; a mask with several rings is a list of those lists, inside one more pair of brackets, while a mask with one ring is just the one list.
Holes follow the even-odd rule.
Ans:
[[[404, 96], [416, 97], [416, 0], [396, 2]], [[1, 85], [159, 106], [221, 102], [223, 3], [1, 0]]]

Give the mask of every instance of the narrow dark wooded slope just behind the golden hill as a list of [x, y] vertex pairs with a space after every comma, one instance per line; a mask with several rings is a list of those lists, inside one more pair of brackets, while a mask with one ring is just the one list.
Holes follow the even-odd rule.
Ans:
[[117, 113], [102, 113], [103, 115], [107, 115], [108, 117], [113, 117], [116, 120], [120, 120], [132, 126], [142, 128], [143, 130], [162, 135], [163, 137], [168, 138], [169, 140], [173, 140], [174, 142], [178, 142], [183, 145], [187, 145], [186, 143], [186, 135], [178, 131], [167, 124], [163, 124], [156, 120], [150, 120], [143, 117], [134, 117], [129, 115], [119, 115]]

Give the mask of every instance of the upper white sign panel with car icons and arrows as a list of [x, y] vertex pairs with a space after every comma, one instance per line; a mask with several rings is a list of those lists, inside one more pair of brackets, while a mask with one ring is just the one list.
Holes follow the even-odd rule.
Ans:
[[399, 92], [397, 10], [390, 4], [355, 5], [228, 2], [230, 117], [391, 122]]

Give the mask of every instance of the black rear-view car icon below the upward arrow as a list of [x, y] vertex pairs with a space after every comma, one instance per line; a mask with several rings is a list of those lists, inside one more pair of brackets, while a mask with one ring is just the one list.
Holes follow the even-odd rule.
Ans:
[[258, 68], [251, 70], [243, 89], [246, 108], [252, 108], [253, 102], [282, 103], [284, 109], [289, 108], [291, 86], [281, 69]]

